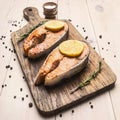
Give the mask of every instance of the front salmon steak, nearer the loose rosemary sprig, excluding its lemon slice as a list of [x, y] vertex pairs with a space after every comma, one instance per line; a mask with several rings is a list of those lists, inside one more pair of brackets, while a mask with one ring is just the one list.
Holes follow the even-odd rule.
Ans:
[[35, 85], [44, 83], [52, 86], [63, 78], [68, 78], [80, 72], [87, 64], [90, 53], [89, 45], [83, 41], [84, 50], [78, 57], [67, 57], [56, 47], [46, 58], [35, 78]]

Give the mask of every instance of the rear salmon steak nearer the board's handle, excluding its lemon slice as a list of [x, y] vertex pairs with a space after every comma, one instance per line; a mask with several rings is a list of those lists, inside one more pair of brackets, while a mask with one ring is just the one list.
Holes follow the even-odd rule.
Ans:
[[47, 30], [45, 25], [32, 31], [23, 43], [25, 56], [33, 59], [38, 58], [41, 55], [50, 52], [61, 41], [67, 39], [68, 25], [66, 22], [64, 23], [64, 28], [58, 32]]

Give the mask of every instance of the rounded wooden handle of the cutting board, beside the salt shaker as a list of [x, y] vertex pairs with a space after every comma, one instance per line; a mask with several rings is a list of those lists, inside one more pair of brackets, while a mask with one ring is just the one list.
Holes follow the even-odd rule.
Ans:
[[43, 21], [44, 19], [39, 16], [38, 9], [35, 7], [26, 7], [23, 10], [24, 18], [31, 23]]

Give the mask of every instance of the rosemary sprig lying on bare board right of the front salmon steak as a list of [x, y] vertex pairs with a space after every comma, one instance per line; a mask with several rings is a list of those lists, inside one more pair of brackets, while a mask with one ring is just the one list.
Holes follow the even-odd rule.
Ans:
[[90, 84], [90, 81], [91, 81], [92, 79], [94, 79], [94, 78], [98, 75], [98, 73], [100, 73], [100, 71], [101, 71], [101, 66], [102, 66], [102, 62], [100, 61], [100, 62], [99, 62], [99, 66], [98, 66], [98, 68], [96, 69], [96, 71], [94, 71], [94, 72], [93, 72], [88, 78], [86, 78], [83, 82], [80, 82], [80, 84], [79, 84], [77, 87], [73, 88], [73, 89], [70, 91], [70, 94], [73, 94], [73, 93], [74, 93], [75, 91], [77, 91], [78, 89], [80, 89], [80, 88], [82, 88], [82, 87]]

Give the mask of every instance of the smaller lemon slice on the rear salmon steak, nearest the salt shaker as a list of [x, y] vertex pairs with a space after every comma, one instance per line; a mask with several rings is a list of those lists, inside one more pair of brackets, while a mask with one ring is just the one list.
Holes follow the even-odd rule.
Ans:
[[59, 20], [50, 20], [45, 23], [45, 28], [53, 32], [58, 32], [63, 27], [64, 27], [64, 22]]

